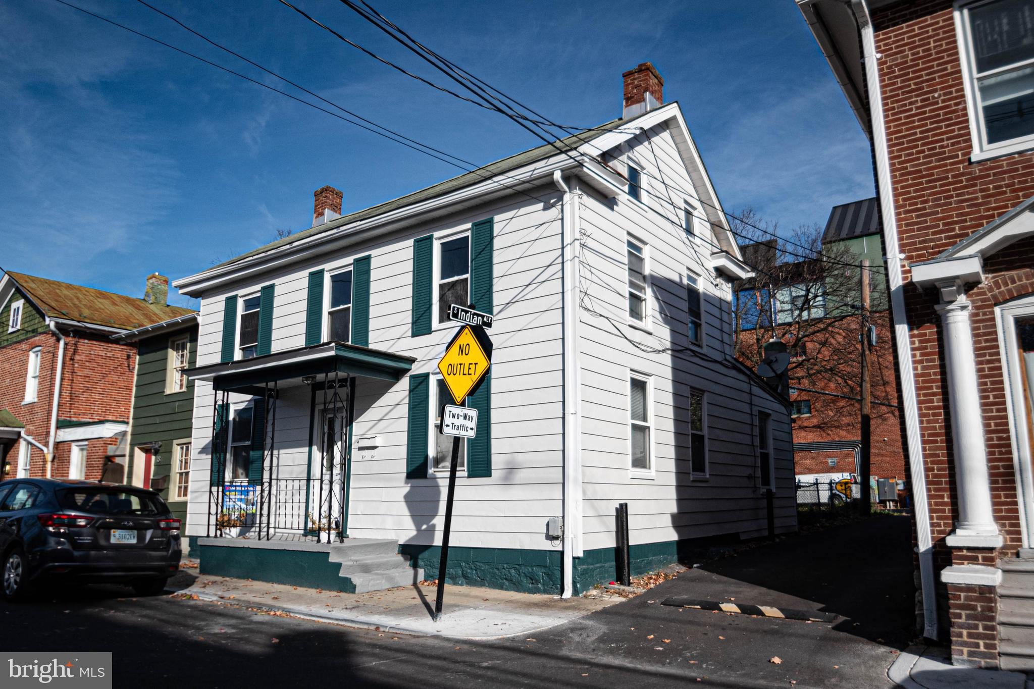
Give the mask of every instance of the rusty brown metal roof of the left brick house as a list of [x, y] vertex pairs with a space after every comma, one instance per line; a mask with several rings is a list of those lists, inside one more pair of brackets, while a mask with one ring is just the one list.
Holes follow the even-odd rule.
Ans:
[[7, 275], [26, 296], [51, 318], [132, 331], [194, 312], [193, 309], [148, 304], [135, 296], [37, 278], [24, 273], [8, 272]]

